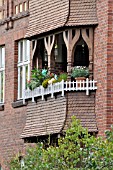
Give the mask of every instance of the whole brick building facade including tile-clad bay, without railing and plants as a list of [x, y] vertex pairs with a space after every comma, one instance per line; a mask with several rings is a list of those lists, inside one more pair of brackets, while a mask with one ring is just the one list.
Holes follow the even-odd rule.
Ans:
[[[0, 164], [4, 170], [11, 156], [24, 150], [25, 141], [61, 133], [71, 115], [89, 132], [102, 136], [113, 124], [112, 24], [111, 0], [0, 2]], [[43, 68], [46, 63], [50, 71], [64, 69], [70, 76], [80, 37], [88, 46], [90, 79], [97, 81], [97, 90], [89, 96], [84, 91], [67, 91], [64, 97], [56, 93], [53, 99], [45, 95], [44, 101], [35, 96], [35, 102], [29, 98], [23, 103], [33, 65]], [[57, 61], [52, 55], [56, 40], [62, 47], [62, 59]], [[44, 46], [46, 62], [40, 52]]]

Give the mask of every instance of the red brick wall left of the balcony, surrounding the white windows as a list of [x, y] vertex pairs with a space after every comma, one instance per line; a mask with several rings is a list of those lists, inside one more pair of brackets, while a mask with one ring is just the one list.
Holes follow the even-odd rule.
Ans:
[[23, 149], [24, 141], [20, 138], [26, 122], [26, 107], [13, 108], [17, 99], [17, 44], [24, 38], [28, 17], [13, 22], [13, 29], [6, 30], [6, 24], [0, 25], [0, 45], [5, 45], [5, 103], [0, 111], [0, 164], [7, 170], [5, 161], [11, 155]]

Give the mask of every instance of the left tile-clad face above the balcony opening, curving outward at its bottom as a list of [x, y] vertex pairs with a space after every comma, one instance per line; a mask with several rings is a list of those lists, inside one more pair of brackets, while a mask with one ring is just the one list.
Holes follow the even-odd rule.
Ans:
[[62, 27], [67, 21], [68, 0], [32, 0], [29, 6], [30, 18], [26, 37]]

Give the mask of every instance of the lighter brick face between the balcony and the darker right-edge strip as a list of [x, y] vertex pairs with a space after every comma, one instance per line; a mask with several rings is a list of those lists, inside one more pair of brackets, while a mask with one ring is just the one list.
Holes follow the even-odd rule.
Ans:
[[104, 135], [107, 116], [108, 0], [97, 1], [98, 26], [94, 32], [94, 79], [97, 80], [96, 115], [99, 135]]

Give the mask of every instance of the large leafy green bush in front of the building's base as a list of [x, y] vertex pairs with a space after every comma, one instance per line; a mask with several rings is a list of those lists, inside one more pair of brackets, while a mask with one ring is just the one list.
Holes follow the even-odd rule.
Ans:
[[[113, 170], [113, 128], [107, 138], [96, 138], [73, 118], [59, 147], [43, 143], [28, 148], [22, 170]], [[18, 157], [11, 161], [11, 170], [20, 170]]]

